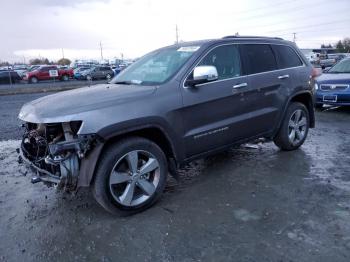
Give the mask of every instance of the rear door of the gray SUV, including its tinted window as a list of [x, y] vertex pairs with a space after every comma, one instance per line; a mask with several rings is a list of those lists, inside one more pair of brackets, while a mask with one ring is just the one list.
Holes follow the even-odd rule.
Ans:
[[241, 55], [249, 84], [246, 101], [251, 110], [247, 136], [265, 135], [272, 132], [278, 122], [290, 78], [284, 78], [278, 70], [269, 44], [242, 44]]

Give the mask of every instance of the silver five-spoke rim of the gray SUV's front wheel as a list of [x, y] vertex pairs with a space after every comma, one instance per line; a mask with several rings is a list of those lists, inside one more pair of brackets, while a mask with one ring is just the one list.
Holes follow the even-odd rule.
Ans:
[[109, 188], [117, 202], [135, 206], [155, 193], [159, 178], [157, 159], [150, 152], [135, 150], [117, 161], [109, 178]]

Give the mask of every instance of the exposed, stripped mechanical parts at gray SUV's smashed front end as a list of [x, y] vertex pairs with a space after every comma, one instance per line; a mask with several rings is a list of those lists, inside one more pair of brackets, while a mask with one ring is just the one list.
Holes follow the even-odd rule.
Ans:
[[81, 121], [24, 124], [19, 161], [26, 162], [36, 172], [32, 183], [44, 182], [65, 191], [77, 189], [81, 167], [89, 165], [84, 161], [88, 161], [89, 154], [100, 144], [95, 134], [78, 135], [81, 124]]

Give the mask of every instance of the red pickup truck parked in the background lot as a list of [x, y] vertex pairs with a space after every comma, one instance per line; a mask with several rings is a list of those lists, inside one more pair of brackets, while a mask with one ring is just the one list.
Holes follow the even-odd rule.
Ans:
[[60, 69], [57, 66], [40, 66], [33, 71], [29, 71], [23, 77], [28, 83], [37, 83], [41, 80], [59, 79], [68, 81], [74, 75], [73, 69]]

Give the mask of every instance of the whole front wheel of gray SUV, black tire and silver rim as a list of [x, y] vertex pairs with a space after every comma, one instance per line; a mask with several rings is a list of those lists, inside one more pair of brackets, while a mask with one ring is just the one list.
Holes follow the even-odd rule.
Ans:
[[167, 173], [166, 157], [157, 144], [130, 137], [103, 152], [92, 192], [96, 201], [110, 213], [134, 214], [160, 198]]

